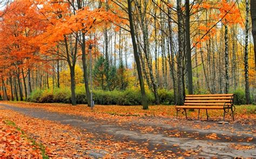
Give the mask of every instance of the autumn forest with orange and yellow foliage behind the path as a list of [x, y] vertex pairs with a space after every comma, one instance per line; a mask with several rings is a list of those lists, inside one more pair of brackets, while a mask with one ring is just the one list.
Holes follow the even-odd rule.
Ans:
[[249, 0], [2, 2], [1, 98], [90, 106], [92, 90], [95, 104], [148, 109], [234, 93], [255, 104], [255, 12]]

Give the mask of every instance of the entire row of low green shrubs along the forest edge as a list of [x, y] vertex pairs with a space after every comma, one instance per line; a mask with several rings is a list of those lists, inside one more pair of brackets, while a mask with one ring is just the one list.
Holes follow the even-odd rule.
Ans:
[[[245, 104], [245, 92], [241, 89], [235, 90], [235, 105]], [[164, 89], [158, 90], [160, 104], [171, 105], [174, 104], [173, 91]], [[149, 104], [154, 104], [154, 96], [147, 92]], [[84, 88], [78, 87], [76, 89], [76, 99], [78, 104], [87, 104], [86, 93]], [[94, 90], [93, 100], [95, 104], [100, 105], [140, 105], [141, 95], [138, 89], [128, 89], [125, 91], [103, 91]], [[55, 90], [35, 90], [28, 98], [29, 102], [37, 103], [71, 103], [71, 92], [69, 88], [61, 88]]]

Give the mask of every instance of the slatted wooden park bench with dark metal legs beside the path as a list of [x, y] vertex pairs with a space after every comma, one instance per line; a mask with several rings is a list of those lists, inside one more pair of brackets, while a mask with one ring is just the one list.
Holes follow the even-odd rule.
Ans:
[[232, 118], [234, 120], [234, 111], [235, 107], [233, 105], [234, 94], [215, 94], [215, 95], [186, 95], [185, 103], [182, 106], [176, 105], [177, 118], [178, 112], [180, 110], [184, 110], [186, 119], [187, 113], [186, 109], [198, 109], [198, 120], [200, 109], [206, 110], [207, 120], [208, 120], [208, 112], [207, 110], [215, 109], [215, 110], [224, 110], [223, 120], [225, 121], [225, 114], [231, 110]]

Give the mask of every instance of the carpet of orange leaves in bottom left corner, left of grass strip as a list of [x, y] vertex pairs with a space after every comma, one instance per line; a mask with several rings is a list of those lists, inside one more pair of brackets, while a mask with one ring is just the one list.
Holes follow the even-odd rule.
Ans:
[[42, 158], [41, 151], [15, 127], [6, 125], [0, 118], [0, 157]]

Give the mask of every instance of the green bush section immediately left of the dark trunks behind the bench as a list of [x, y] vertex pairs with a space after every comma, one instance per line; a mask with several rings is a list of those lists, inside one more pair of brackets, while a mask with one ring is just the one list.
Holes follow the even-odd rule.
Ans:
[[173, 91], [167, 91], [165, 89], [158, 90], [159, 100], [161, 104], [170, 105], [174, 104]]

